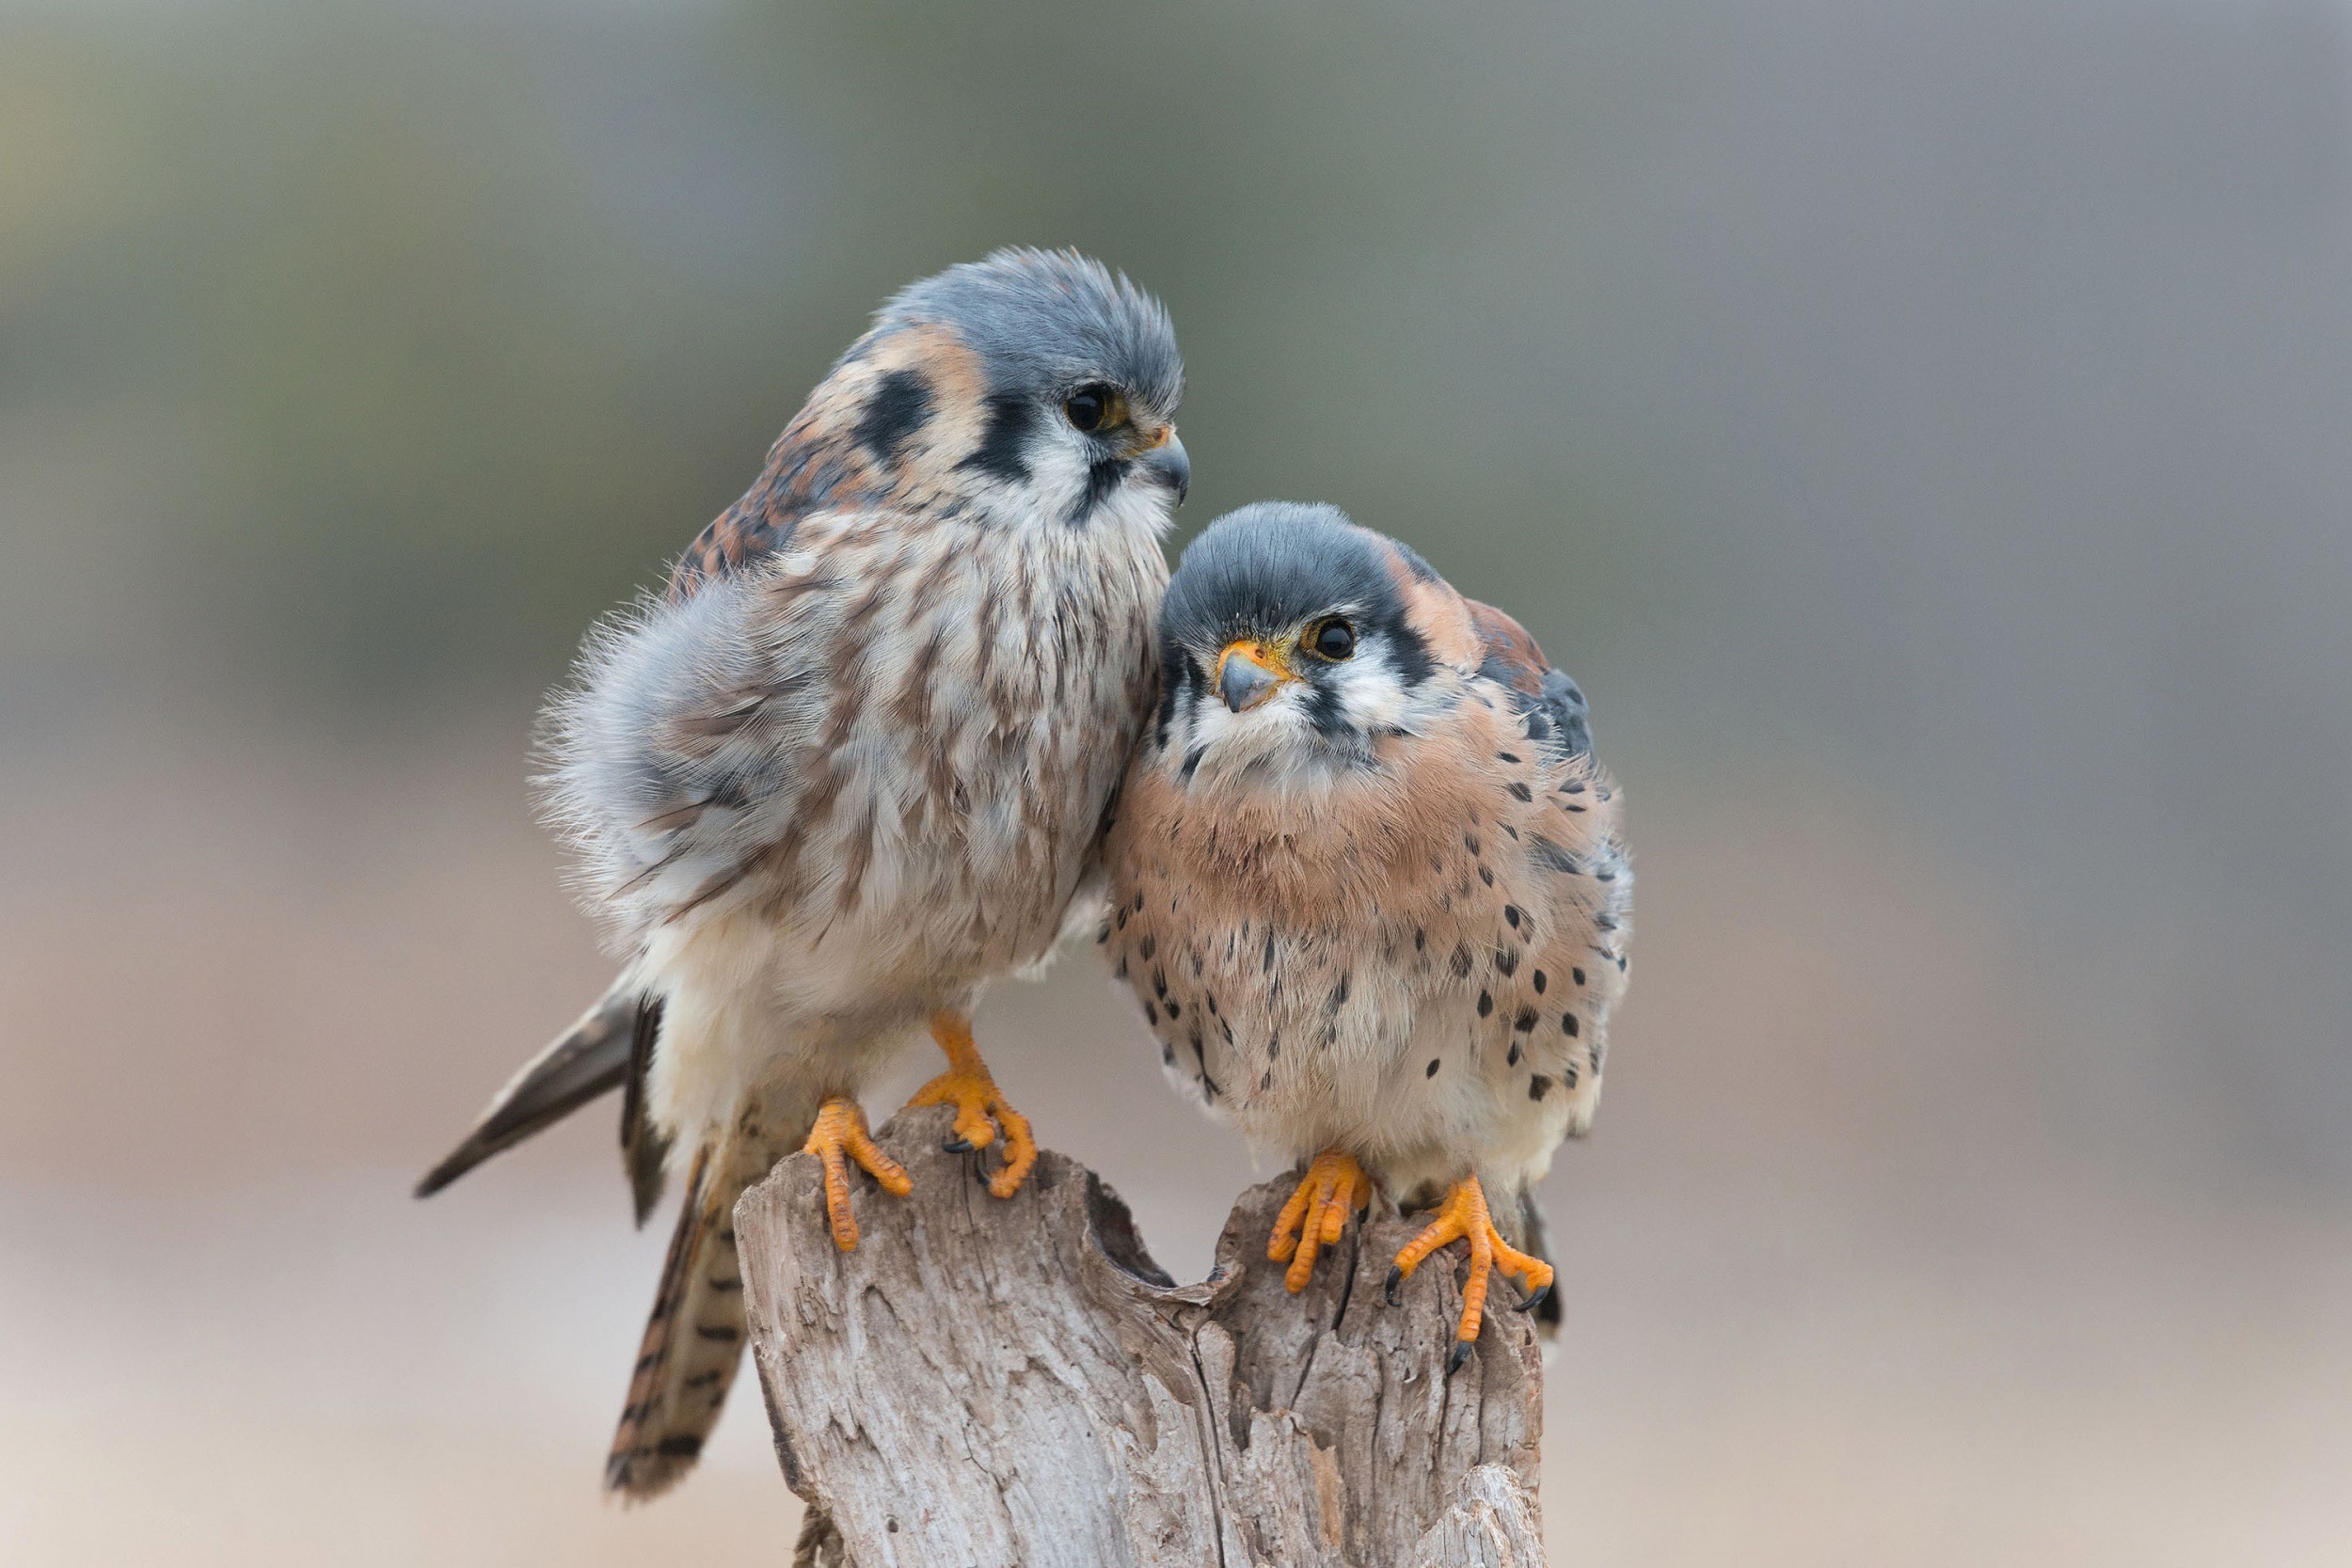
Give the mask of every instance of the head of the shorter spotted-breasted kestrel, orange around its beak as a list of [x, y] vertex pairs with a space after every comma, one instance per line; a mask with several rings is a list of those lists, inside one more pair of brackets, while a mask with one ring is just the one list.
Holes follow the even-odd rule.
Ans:
[[1185, 778], [1362, 766], [1475, 665], [1428, 562], [1331, 505], [1258, 501], [1183, 552], [1160, 609], [1160, 726]]

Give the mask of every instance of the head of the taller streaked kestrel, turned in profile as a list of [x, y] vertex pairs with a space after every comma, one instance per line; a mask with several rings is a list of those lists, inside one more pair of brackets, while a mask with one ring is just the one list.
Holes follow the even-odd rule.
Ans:
[[1075, 252], [1002, 249], [903, 289], [811, 400], [875, 489], [1007, 522], [1167, 527], [1192, 477], [1160, 301]]

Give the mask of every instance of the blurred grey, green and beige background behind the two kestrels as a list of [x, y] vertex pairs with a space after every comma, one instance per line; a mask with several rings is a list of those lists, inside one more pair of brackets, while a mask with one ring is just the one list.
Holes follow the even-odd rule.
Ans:
[[[2352, 1563], [2340, 0], [7, 2], [0, 1559], [786, 1561], [757, 1399], [597, 1495], [609, 1112], [407, 1187], [607, 973], [541, 691], [1007, 242], [1171, 306], [1171, 543], [1592, 693], [1557, 1563]], [[1197, 1276], [1129, 1006], [981, 1027]]]

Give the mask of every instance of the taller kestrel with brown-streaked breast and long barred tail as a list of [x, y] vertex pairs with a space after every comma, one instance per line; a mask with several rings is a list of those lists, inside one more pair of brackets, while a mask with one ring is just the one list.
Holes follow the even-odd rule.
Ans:
[[858, 1091], [929, 1027], [950, 1147], [1037, 1159], [971, 1041], [1042, 961], [1150, 719], [1160, 536], [1188, 482], [1167, 313], [1075, 254], [997, 252], [891, 299], [703, 529], [668, 592], [600, 625], [546, 715], [555, 825], [626, 969], [426, 1178], [626, 1086], [640, 1222], [684, 1211], [607, 1486], [701, 1453], [743, 1345], [734, 1204], [823, 1157], [908, 1175]]

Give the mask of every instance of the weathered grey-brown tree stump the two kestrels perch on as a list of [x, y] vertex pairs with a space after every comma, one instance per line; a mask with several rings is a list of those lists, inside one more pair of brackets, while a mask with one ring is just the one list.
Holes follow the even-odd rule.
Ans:
[[1374, 1213], [1291, 1295], [1265, 1237], [1291, 1180], [1242, 1194], [1207, 1281], [1176, 1286], [1120, 1197], [1047, 1152], [1009, 1201], [948, 1154], [948, 1110], [880, 1143], [835, 1251], [818, 1164], [743, 1194], [750, 1347], [823, 1568], [1541, 1568], [1534, 1324], [1489, 1312], [1446, 1378], [1458, 1269], [1383, 1300], [1418, 1229]]

